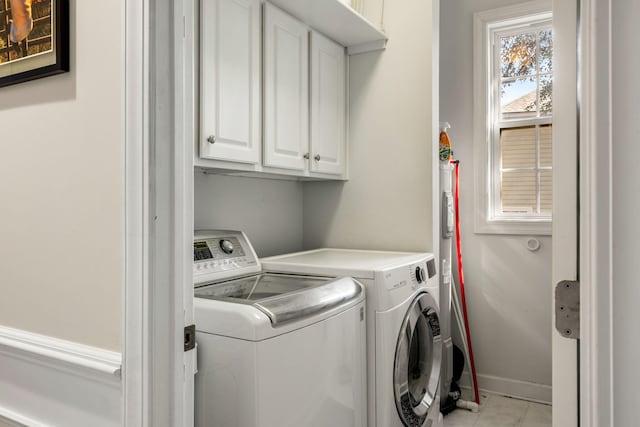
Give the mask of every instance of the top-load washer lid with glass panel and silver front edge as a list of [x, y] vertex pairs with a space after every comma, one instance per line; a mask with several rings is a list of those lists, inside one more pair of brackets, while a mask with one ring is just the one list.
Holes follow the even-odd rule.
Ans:
[[348, 304], [362, 293], [350, 277], [263, 273], [196, 288], [195, 297], [252, 305], [278, 326]]

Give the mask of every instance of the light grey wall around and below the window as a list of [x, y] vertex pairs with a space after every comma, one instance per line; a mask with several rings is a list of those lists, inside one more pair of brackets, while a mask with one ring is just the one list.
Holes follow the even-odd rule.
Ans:
[[473, 13], [519, 0], [441, 2], [440, 119], [460, 160], [464, 277], [481, 387], [551, 400], [551, 238], [474, 233]]

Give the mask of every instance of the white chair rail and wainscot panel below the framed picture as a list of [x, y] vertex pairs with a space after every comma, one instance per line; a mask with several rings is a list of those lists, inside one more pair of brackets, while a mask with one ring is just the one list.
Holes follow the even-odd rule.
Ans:
[[120, 353], [0, 326], [0, 420], [121, 425]]

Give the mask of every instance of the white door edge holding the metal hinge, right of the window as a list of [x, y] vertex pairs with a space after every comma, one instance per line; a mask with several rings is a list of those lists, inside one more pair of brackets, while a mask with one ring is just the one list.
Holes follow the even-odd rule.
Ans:
[[[553, 2], [553, 312], [555, 284], [578, 278], [576, 1]], [[553, 425], [578, 426], [578, 341], [553, 321]]]

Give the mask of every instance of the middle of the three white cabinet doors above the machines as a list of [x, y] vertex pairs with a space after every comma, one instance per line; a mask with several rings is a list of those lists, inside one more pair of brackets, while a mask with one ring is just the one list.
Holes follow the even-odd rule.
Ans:
[[306, 25], [265, 3], [264, 165], [305, 170], [309, 149]]

